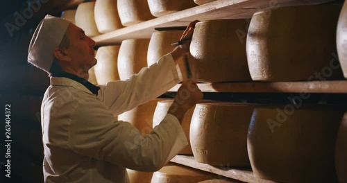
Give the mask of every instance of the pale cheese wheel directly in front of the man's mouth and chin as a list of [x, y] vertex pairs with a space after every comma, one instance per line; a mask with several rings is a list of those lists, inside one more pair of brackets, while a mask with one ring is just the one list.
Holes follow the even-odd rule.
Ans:
[[101, 46], [96, 52], [95, 58], [98, 60], [95, 68], [95, 76], [99, 85], [105, 85], [110, 81], [119, 80], [117, 59], [119, 45]]

